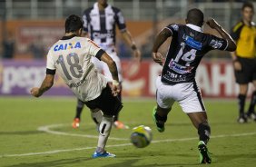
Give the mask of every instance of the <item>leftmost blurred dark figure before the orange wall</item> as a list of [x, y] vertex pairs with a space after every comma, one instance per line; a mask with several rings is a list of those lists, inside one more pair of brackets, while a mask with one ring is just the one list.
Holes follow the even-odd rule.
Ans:
[[15, 55], [15, 39], [11, 32], [8, 32], [3, 39], [3, 58], [12, 59]]

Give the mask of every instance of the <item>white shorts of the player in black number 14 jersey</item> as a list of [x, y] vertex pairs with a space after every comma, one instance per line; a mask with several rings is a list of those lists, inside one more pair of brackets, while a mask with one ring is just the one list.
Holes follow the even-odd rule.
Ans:
[[169, 85], [161, 82], [161, 76], [156, 79], [156, 101], [163, 109], [172, 107], [177, 101], [184, 113], [205, 112], [200, 89], [196, 83], [178, 83]]

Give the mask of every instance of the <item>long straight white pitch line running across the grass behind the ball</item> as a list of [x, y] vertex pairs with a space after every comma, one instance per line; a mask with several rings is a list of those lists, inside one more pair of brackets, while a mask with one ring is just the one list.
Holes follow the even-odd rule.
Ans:
[[[53, 127], [53, 125], [51, 125], [51, 127]], [[54, 134], [57, 134], [57, 133], [54, 133]], [[250, 135], [255, 135], [255, 134], [256, 134], [256, 132], [255, 133], [222, 134], [222, 135], [211, 136], [211, 138], [241, 137], [241, 136], [250, 136]], [[63, 134], [61, 134], [61, 135], [63, 135]], [[66, 135], [66, 134], [64, 134], [64, 135]], [[91, 136], [91, 135], [89, 135], [89, 136]], [[165, 140], [153, 141], [152, 143], [159, 143], [159, 142], [182, 142], [182, 141], [192, 141], [192, 140], [198, 140], [198, 137], [182, 138], [182, 139], [165, 139]], [[110, 147], [123, 147], [123, 146], [130, 146], [130, 145], [132, 145], [132, 143], [107, 145], [106, 147], [107, 148], [110, 148]], [[29, 152], [29, 153], [21, 153], [21, 154], [4, 154], [4, 155], [0, 155], [0, 158], [5, 158], [5, 157], [23, 157], [23, 156], [43, 155], [43, 154], [54, 154], [54, 153], [59, 153], [59, 152], [74, 152], [74, 151], [83, 151], [83, 150], [91, 150], [91, 149], [95, 149], [95, 146], [93, 146], [93, 147], [74, 148], [74, 149], [54, 150], [54, 151], [48, 151], [48, 152]]]

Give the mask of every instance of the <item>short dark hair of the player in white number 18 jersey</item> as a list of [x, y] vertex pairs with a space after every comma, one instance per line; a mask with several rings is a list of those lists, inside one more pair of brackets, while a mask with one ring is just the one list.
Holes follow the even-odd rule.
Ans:
[[65, 33], [74, 33], [83, 28], [83, 20], [78, 15], [69, 15], [65, 20]]

